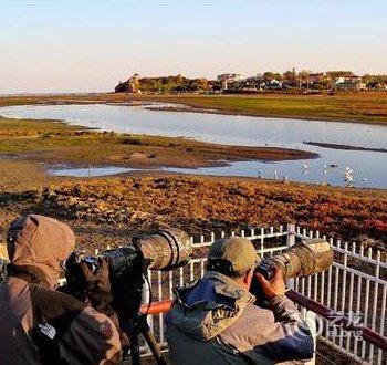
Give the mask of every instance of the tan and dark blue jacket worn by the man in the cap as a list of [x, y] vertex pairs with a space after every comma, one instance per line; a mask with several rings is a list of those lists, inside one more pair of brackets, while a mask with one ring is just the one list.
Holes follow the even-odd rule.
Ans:
[[177, 290], [166, 316], [172, 362], [295, 364], [313, 357], [311, 332], [289, 299], [275, 296], [269, 309], [254, 302], [232, 279], [211, 271]]

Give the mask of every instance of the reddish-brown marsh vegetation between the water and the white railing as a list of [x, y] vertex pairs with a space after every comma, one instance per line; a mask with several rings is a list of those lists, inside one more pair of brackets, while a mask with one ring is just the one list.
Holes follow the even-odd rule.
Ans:
[[175, 225], [198, 234], [296, 222], [345, 240], [365, 234], [387, 243], [383, 191], [168, 176], [69, 181], [43, 197], [70, 219], [127, 229]]

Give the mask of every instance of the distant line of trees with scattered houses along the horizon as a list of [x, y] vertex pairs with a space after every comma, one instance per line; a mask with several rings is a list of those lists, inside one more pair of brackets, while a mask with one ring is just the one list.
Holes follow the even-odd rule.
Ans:
[[[229, 79], [228, 79], [229, 77]], [[139, 77], [134, 74], [115, 87], [116, 93], [219, 93], [262, 91], [387, 91], [387, 75], [355, 75], [352, 71], [311, 72], [290, 70], [264, 72], [240, 79], [238, 74], [219, 75], [217, 80], [189, 79], [182, 75]]]

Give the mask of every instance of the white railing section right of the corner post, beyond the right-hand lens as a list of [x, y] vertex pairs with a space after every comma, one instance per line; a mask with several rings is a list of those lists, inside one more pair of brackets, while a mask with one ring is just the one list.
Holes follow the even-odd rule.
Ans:
[[[301, 232], [301, 239], [313, 238], [317, 232]], [[325, 237], [323, 237], [325, 238]], [[325, 238], [326, 239], [326, 238]], [[339, 314], [352, 315], [354, 324], [367, 326], [386, 335], [387, 302], [387, 260], [386, 251], [368, 248], [363, 244], [330, 239], [335, 259], [330, 270], [308, 278], [295, 280], [295, 290], [331, 307]], [[374, 348], [354, 333], [337, 326], [331, 331], [330, 324], [322, 320], [322, 337], [332, 345], [343, 350], [357, 361], [369, 364], [386, 364], [387, 354]]]

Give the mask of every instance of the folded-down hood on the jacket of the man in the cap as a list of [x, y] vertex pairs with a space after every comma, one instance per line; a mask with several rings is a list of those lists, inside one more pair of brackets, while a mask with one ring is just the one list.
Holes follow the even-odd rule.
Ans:
[[228, 328], [255, 301], [254, 295], [232, 279], [212, 271], [175, 294], [167, 324], [200, 341], [209, 341]]

